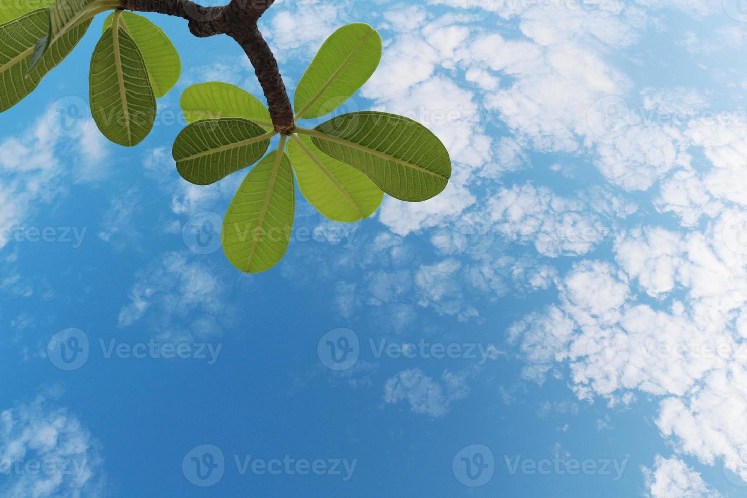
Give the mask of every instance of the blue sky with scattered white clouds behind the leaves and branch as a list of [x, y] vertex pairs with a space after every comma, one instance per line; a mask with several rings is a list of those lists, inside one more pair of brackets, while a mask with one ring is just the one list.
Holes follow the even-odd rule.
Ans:
[[333, 115], [415, 119], [453, 173], [351, 224], [297, 192], [257, 275], [218, 233], [248, 170], [171, 158], [191, 84], [263, 99], [247, 57], [146, 14], [182, 76], [120, 147], [87, 105], [105, 16], [0, 115], [1, 496], [747, 496], [741, 0], [276, 1], [291, 100], [367, 22]]

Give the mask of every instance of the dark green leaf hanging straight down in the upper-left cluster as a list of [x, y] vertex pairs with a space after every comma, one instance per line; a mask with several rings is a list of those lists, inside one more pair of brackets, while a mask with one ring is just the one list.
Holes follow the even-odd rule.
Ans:
[[116, 20], [93, 49], [90, 102], [93, 121], [114, 143], [134, 146], [153, 128], [155, 96], [143, 56]]

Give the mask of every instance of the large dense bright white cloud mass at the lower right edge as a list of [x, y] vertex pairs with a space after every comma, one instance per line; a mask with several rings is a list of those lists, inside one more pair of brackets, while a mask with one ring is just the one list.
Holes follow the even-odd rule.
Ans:
[[[705, 233], [630, 231], [615, 247], [624, 272], [575, 265], [560, 282], [560, 305], [515, 323], [509, 337], [521, 346], [530, 378], [541, 381], [567, 361], [581, 399], [629, 402], [636, 390], [661, 396], [657, 426], [679, 452], [710, 465], [723, 459], [747, 478], [740, 453], [747, 447], [740, 312], [747, 275], [744, 255], [722, 236], [729, 216]], [[657, 299], [684, 290], [684, 301], [673, 299], [669, 309], [636, 302], [632, 283]], [[654, 488], [669, 485], [660, 480]]]

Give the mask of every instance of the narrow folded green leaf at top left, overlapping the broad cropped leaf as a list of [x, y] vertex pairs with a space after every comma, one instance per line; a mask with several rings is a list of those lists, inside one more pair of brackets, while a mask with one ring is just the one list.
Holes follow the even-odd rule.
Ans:
[[87, 22], [97, 13], [120, 7], [120, 0], [55, 0], [49, 7], [49, 31], [46, 40], [40, 40], [40, 45], [34, 49], [29, 70], [39, 63], [49, 47], [56, 43], [67, 31], [75, 28], [81, 22]]

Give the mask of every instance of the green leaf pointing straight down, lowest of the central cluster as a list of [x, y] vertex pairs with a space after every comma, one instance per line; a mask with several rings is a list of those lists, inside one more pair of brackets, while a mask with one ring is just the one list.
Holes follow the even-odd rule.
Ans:
[[282, 139], [280, 148], [244, 178], [223, 218], [223, 252], [242, 272], [259, 273], [275, 266], [291, 239], [295, 193]]

